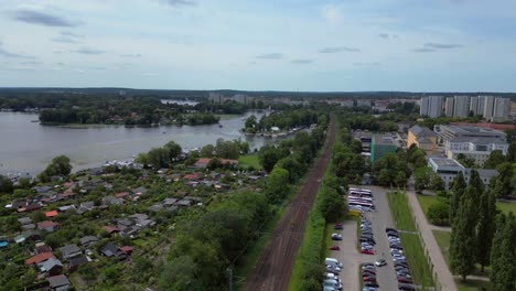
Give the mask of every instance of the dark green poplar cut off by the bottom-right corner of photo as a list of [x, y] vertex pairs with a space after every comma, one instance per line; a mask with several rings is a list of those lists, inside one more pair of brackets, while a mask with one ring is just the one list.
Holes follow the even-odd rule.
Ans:
[[516, 220], [513, 213], [499, 215], [491, 252], [491, 282], [494, 291], [516, 290]]

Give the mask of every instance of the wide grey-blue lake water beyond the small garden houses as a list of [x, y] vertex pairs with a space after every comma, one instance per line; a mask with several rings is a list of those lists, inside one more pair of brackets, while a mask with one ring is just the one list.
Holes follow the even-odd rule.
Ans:
[[[247, 112], [244, 117], [259, 112]], [[58, 154], [66, 154], [74, 171], [99, 166], [108, 160], [122, 160], [173, 140], [184, 148], [214, 144], [217, 139], [241, 139], [251, 149], [275, 142], [262, 137], [246, 137], [243, 116], [222, 119], [209, 126], [161, 126], [126, 128], [90, 126], [63, 128], [41, 126], [33, 114], [0, 112], [0, 173], [39, 173]]]

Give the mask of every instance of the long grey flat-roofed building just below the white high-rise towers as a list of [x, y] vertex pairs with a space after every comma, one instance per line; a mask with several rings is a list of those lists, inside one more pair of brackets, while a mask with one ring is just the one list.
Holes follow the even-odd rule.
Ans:
[[491, 128], [473, 126], [436, 125], [433, 131], [439, 136], [441, 142], [454, 138], [494, 138], [506, 140], [506, 133]]

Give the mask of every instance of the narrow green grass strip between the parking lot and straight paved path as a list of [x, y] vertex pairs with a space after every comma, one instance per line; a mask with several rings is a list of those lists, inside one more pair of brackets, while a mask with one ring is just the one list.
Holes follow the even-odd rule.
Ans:
[[[400, 230], [417, 231], [407, 195], [405, 193], [389, 193], [388, 201], [396, 227]], [[404, 251], [407, 254], [407, 262], [410, 266], [415, 283], [422, 287], [432, 287], [432, 272], [418, 235], [401, 233], [400, 239]]]

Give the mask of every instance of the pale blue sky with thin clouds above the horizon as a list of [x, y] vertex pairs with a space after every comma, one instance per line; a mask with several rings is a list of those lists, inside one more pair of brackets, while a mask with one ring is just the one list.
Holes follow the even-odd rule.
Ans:
[[1, 0], [0, 87], [516, 91], [516, 1]]

